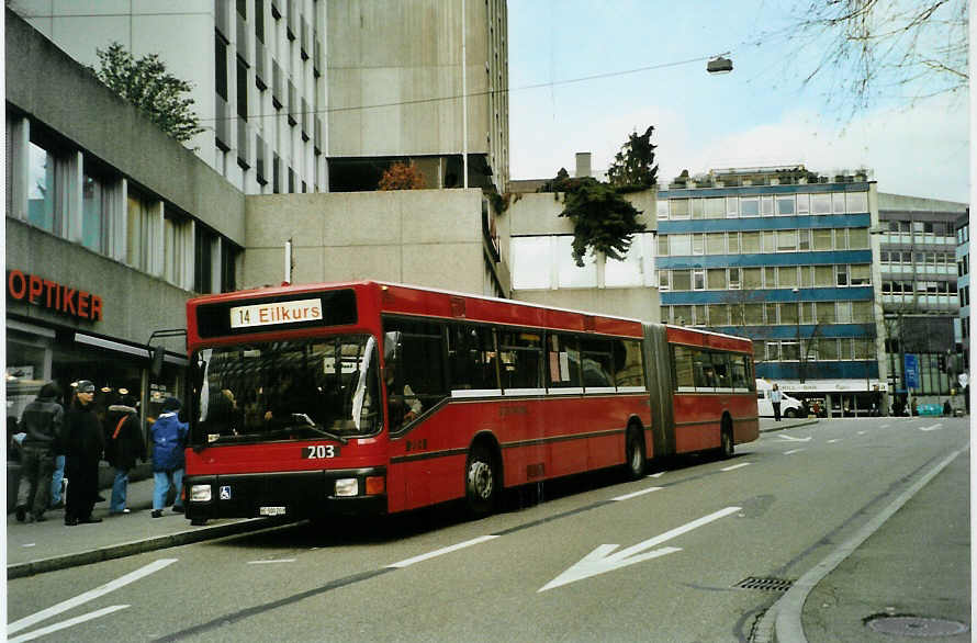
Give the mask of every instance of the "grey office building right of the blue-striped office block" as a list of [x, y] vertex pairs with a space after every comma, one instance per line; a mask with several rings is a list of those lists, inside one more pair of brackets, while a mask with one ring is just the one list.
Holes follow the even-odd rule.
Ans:
[[[900, 401], [942, 405], [957, 386], [952, 371], [963, 298], [955, 225], [966, 211], [965, 203], [878, 195], [886, 360]], [[916, 364], [908, 379], [907, 359]]]

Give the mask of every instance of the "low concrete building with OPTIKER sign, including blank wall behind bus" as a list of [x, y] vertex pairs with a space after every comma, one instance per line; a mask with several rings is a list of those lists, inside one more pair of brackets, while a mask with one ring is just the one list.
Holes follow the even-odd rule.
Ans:
[[9, 10], [4, 36], [8, 415], [52, 379], [144, 415], [183, 396], [183, 338], [154, 340], [155, 375], [150, 336], [186, 328], [191, 296], [281, 283], [289, 238], [293, 283], [508, 295], [482, 190], [246, 196]]

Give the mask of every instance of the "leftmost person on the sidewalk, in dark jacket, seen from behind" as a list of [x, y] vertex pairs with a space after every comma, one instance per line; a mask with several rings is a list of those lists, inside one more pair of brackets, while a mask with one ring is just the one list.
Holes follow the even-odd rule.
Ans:
[[31, 518], [41, 522], [50, 501], [50, 476], [54, 459], [63, 451], [60, 443], [65, 410], [57, 402], [60, 390], [54, 382], [41, 387], [34, 402], [21, 416], [21, 430], [25, 433], [21, 444], [21, 478], [16, 492], [16, 519]]

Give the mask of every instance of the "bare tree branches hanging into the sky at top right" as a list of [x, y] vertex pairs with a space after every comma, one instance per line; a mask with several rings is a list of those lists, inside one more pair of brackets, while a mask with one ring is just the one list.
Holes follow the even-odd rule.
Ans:
[[851, 113], [876, 98], [965, 94], [968, 0], [795, 0], [787, 26], [759, 43], [786, 40], [805, 86], [830, 76], [830, 102]]

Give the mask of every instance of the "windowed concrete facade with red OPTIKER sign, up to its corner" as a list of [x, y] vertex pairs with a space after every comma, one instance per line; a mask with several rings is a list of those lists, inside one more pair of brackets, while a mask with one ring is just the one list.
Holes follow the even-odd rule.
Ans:
[[[7, 53], [7, 414], [46, 380], [89, 379], [153, 415], [183, 395], [182, 337], [153, 330], [234, 287], [245, 196], [11, 11]], [[136, 145], [135, 142], [138, 142]]]

